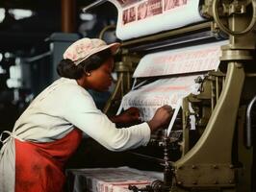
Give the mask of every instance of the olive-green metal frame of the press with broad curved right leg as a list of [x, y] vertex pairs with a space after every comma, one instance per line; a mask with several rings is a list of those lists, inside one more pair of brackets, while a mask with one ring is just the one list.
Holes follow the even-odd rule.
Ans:
[[[121, 60], [115, 63], [115, 91], [104, 111], [111, 112], [111, 107], [117, 106], [131, 89], [131, 76], [142, 56], [131, 47], [200, 31], [225, 35], [229, 44], [221, 47], [218, 71], [209, 72], [201, 94], [183, 100], [182, 155], [176, 161], [166, 162], [169, 171], [165, 173], [165, 187], [154, 190], [250, 192], [256, 178], [252, 176], [252, 128], [250, 122], [246, 124], [251, 116], [246, 110], [251, 110], [256, 100], [256, 0], [205, 0], [201, 2], [201, 13], [210, 21], [122, 42]], [[196, 129], [201, 130], [192, 146], [189, 103], [198, 113]]]

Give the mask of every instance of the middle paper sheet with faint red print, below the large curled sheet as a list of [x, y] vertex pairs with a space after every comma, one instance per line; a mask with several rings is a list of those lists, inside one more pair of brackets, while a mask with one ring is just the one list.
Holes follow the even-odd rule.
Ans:
[[133, 77], [152, 77], [217, 70], [226, 40], [144, 56]]

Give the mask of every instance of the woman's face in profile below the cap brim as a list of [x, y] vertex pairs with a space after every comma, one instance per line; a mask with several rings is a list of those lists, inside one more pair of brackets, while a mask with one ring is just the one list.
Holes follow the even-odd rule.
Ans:
[[106, 60], [99, 68], [90, 71], [87, 79], [90, 89], [107, 91], [112, 84], [113, 58]]

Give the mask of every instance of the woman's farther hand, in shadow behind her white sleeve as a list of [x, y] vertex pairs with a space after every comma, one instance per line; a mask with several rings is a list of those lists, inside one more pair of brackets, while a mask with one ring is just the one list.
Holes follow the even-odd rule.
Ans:
[[128, 108], [124, 110], [121, 114], [110, 118], [114, 123], [130, 124], [138, 123], [140, 120], [140, 110], [139, 108]]

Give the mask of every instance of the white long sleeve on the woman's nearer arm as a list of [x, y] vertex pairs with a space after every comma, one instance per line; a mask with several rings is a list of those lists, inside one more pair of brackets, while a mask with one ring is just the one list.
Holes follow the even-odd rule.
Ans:
[[65, 111], [64, 118], [67, 121], [111, 151], [137, 148], [149, 141], [150, 129], [147, 123], [116, 129], [115, 124], [95, 107], [86, 90], [76, 91]]

